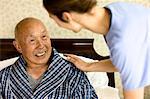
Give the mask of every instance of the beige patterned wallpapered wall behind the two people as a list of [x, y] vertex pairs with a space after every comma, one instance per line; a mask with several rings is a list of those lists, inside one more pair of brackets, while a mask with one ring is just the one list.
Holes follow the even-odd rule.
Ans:
[[[149, 0], [98, 0], [98, 5], [104, 6], [114, 1], [136, 2], [150, 6]], [[52, 38], [94, 38], [94, 48], [101, 55], [109, 55], [102, 38], [97, 34], [83, 30], [78, 34], [59, 28], [42, 7], [42, 0], [0, 0], [0, 38], [14, 38], [14, 28], [17, 22], [25, 17], [36, 17], [44, 22]], [[95, 47], [96, 46], [96, 47]], [[117, 78], [118, 79], [118, 78]], [[117, 87], [120, 83], [117, 80]], [[150, 92], [149, 92], [150, 93]]]

